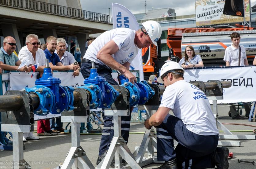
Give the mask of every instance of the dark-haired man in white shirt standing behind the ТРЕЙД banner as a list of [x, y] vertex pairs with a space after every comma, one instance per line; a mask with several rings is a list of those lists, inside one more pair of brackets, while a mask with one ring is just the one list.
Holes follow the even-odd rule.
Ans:
[[[226, 66], [247, 66], [248, 60], [246, 57], [245, 47], [240, 44], [240, 34], [237, 32], [233, 32], [230, 35], [232, 45], [228, 46], [225, 50], [224, 61], [226, 62]], [[250, 103], [243, 103], [246, 116], [248, 117], [251, 110]], [[244, 119], [239, 113], [236, 111], [235, 103], [230, 103], [230, 113], [232, 119]]]

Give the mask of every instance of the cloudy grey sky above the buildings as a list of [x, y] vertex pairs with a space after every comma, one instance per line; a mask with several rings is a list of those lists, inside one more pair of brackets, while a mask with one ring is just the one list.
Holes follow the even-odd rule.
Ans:
[[[82, 9], [86, 11], [109, 14], [110, 8], [110, 17], [112, 2], [125, 6], [132, 13], [145, 13], [145, 0], [80, 0]], [[146, 4], [146, 11], [152, 8], [173, 8], [177, 16], [196, 13], [194, 0], [146, 0]], [[255, 4], [256, 0], [251, 0], [251, 6]]]

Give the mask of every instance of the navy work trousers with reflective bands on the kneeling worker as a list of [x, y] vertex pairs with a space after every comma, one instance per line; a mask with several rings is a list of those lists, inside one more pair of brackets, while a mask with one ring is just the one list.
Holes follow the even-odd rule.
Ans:
[[[174, 140], [178, 141], [174, 149]], [[186, 128], [181, 119], [168, 114], [157, 126], [158, 161], [176, 158], [178, 168], [214, 168], [219, 135], [198, 135]]]

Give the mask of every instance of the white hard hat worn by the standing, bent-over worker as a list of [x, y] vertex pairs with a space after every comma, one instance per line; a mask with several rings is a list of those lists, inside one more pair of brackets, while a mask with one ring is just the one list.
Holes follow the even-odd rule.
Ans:
[[162, 27], [160, 24], [154, 20], [148, 20], [142, 23], [143, 27], [146, 29], [151, 41], [157, 46], [156, 41], [161, 37]]

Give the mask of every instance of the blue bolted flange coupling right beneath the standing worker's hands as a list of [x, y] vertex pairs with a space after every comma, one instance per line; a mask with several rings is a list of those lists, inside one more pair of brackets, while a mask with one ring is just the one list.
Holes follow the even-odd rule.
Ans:
[[130, 106], [135, 106], [139, 103], [139, 94], [140, 94], [140, 89], [137, 86], [136, 83], [132, 84], [131, 82], [129, 82], [128, 79], [126, 79], [126, 77], [124, 77], [124, 75], [119, 75], [119, 79], [121, 81], [121, 85], [120, 86], [124, 86], [126, 87], [126, 89], [129, 91], [130, 94], [130, 98], [129, 98], [129, 102], [130, 102]]

